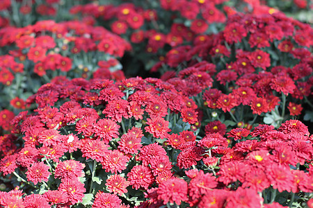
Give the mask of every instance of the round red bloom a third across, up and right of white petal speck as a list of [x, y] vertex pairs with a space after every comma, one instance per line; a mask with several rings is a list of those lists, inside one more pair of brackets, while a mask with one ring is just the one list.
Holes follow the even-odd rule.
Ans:
[[118, 135], [120, 135], [118, 132], [119, 128], [120, 125], [117, 125], [110, 119], [100, 119], [94, 126], [95, 135], [103, 139], [106, 144], [112, 138], [118, 138]]

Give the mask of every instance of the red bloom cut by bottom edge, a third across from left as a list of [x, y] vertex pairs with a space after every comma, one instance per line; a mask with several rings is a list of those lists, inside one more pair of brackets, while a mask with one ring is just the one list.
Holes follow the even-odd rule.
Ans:
[[93, 208], [116, 208], [120, 207], [122, 200], [118, 196], [111, 193], [104, 193], [99, 191], [95, 195], [95, 201], [93, 202]]

